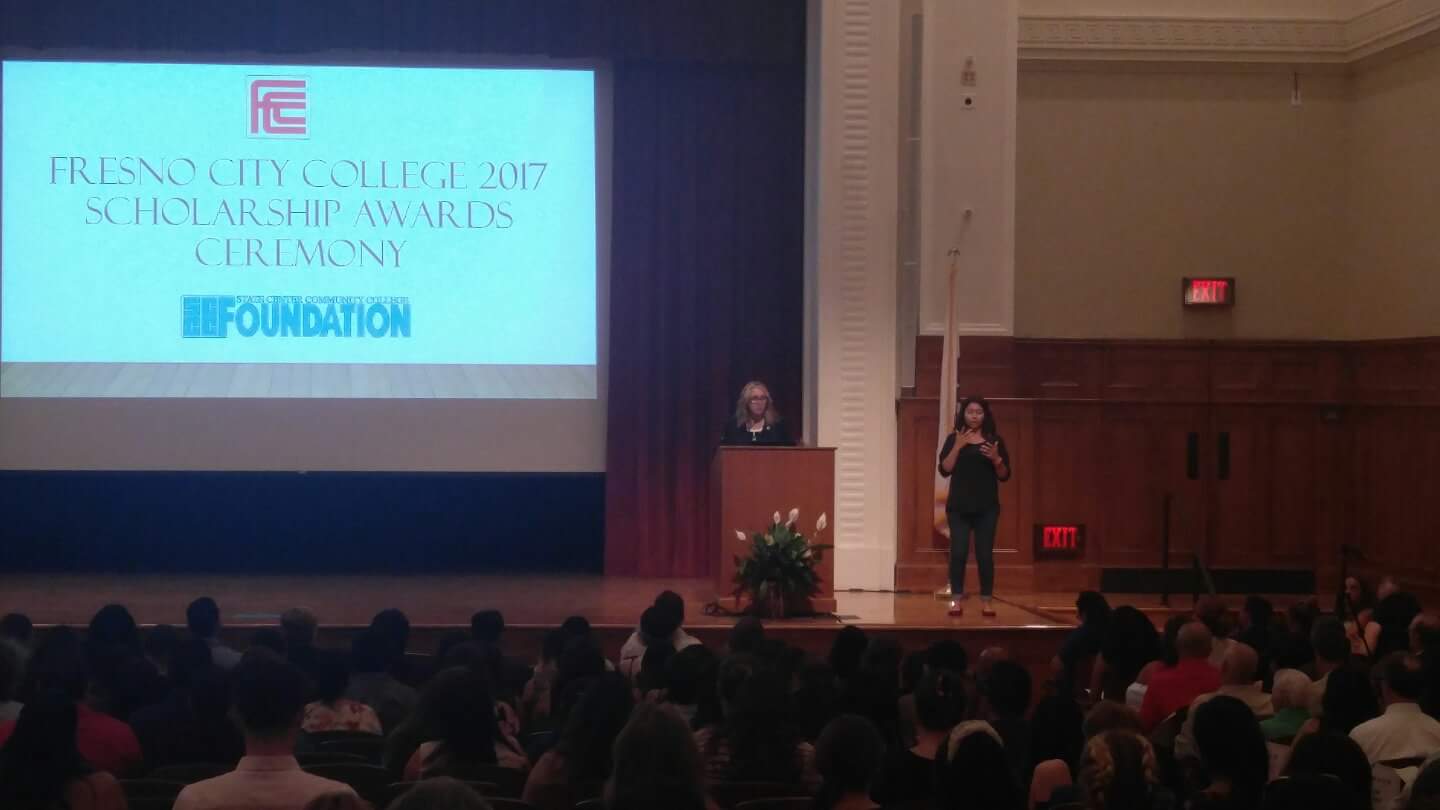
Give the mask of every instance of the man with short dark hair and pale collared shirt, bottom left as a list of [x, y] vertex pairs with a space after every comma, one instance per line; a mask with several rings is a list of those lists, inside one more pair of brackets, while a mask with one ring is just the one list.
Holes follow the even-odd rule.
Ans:
[[284, 659], [259, 650], [235, 666], [232, 698], [245, 734], [245, 757], [233, 771], [180, 791], [174, 810], [301, 810], [348, 785], [307, 774], [295, 761], [295, 739], [310, 685]]

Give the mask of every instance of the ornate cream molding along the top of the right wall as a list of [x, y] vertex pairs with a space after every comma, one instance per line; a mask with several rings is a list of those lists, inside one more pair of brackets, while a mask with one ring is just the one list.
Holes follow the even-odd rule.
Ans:
[[1348, 65], [1440, 30], [1440, 0], [1390, 0], [1329, 19], [1020, 17], [1022, 61], [1283, 62]]

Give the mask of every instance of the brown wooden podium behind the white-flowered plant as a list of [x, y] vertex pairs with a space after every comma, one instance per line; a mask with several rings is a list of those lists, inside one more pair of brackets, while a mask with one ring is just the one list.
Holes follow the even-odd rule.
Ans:
[[[801, 510], [798, 528], [811, 542], [835, 542], [834, 447], [720, 447], [710, 463], [710, 509], [720, 542], [716, 600], [727, 610], [746, 605], [734, 597], [734, 558], [746, 553], [734, 533], [763, 530], [776, 512], [783, 519]], [[815, 520], [827, 515], [829, 528], [815, 538]], [[819, 564], [821, 591], [811, 600], [815, 613], [835, 611], [835, 551]]]

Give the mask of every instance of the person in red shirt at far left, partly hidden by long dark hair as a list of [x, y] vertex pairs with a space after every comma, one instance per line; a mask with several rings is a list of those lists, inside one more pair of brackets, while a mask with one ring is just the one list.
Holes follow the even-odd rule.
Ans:
[[[134, 731], [85, 703], [89, 670], [79, 636], [65, 628], [46, 633], [30, 656], [27, 680], [32, 695], [55, 690], [75, 703], [75, 745], [91, 765], [117, 777], [127, 777], [138, 770], [140, 742]], [[23, 711], [20, 713], [24, 715]], [[10, 738], [16, 725], [17, 721], [0, 724], [0, 745]]]

